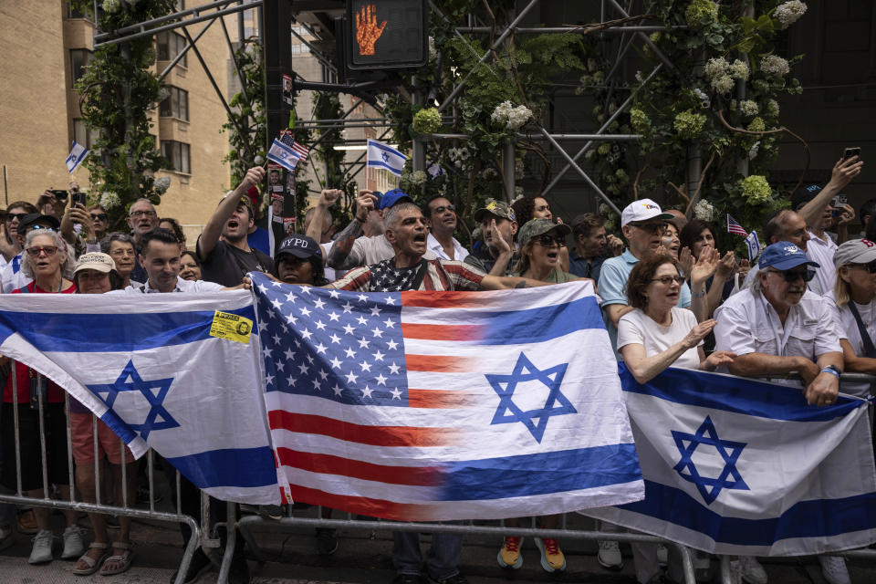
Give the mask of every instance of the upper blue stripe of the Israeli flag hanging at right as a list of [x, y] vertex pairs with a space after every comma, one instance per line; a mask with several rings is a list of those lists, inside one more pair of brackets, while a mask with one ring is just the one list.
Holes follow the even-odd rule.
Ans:
[[618, 373], [623, 391], [774, 420], [828, 422], [866, 404], [866, 401], [840, 396], [834, 405], [808, 405], [803, 391], [798, 388], [673, 367], [645, 385], [636, 381], [623, 363], [618, 364]]

